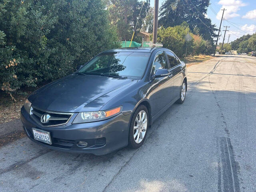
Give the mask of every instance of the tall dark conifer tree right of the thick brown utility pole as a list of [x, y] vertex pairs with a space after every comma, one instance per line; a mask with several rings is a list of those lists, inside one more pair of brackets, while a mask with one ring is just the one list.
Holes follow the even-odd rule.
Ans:
[[205, 40], [216, 37], [215, 24], [206, 18], [210, 0], [166, 0], [160, 7], [159, 25], [164, 27], [176, 26], [186, 21], [191, 31], [196, 30]]

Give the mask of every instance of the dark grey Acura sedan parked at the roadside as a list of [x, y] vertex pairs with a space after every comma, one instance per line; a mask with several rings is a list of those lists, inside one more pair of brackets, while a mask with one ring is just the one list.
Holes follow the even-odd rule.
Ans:
[[171, 50], [112, 49], [33, 92], [21, 121], [38, 144], [103, 155], [139, 148], [154, 120], [184, 102], [186, 90], [186, 64]]

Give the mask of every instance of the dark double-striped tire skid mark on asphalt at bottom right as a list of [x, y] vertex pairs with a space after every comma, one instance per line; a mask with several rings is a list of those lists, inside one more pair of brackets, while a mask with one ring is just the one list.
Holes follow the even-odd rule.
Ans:
[[218, 192], [240, 192], [238, 169], [230, 138], [218, 138], [217, 147], [220, 153], [218, 159]]

